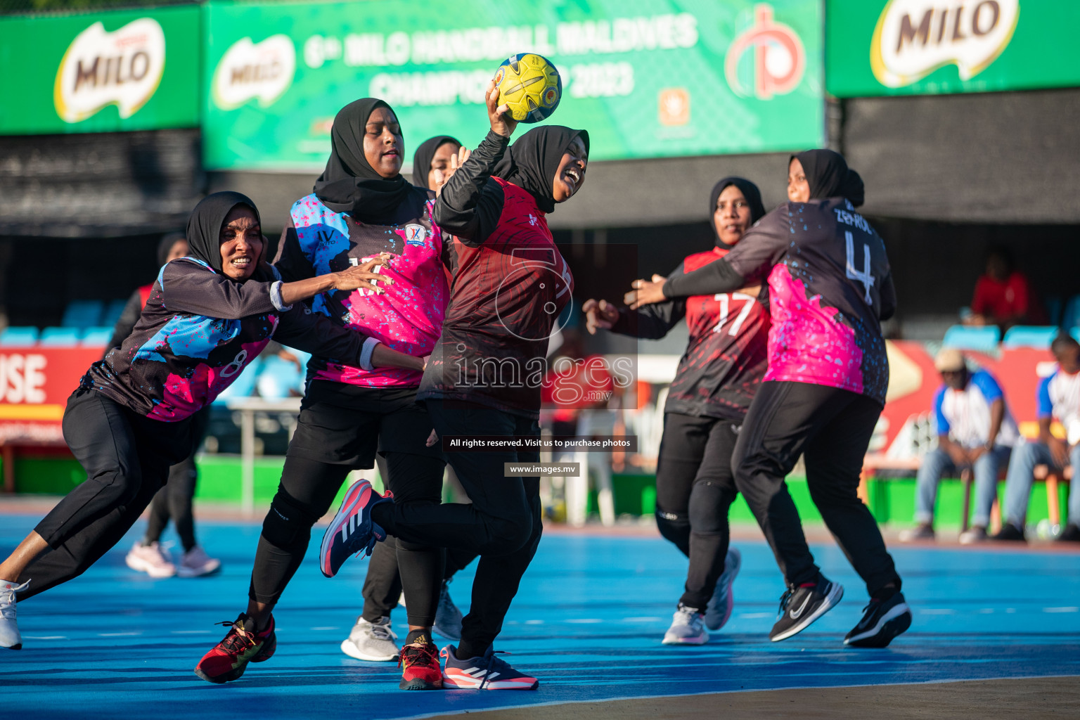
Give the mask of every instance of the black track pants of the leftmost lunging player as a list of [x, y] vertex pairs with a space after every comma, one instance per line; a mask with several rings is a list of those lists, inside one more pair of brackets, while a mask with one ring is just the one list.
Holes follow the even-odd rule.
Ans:
[[188, 454], [191, 430], [188, 420], [150, 420], [80, 388], [64, 411], [64, 439], [86, 480], [35, 528], [50, 549], [17, 579], [33, 581], [19, 600], [81, 575], [120, 542], [165, 483], [168, 466]]

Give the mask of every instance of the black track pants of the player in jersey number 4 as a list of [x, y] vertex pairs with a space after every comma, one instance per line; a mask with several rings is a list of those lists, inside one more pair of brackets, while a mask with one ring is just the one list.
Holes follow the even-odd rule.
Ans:
[[859, 474], [881, 406], [847, 390], [802, 382], [762, 382], [743, 422], [732, 466], [777, 556], [788, 587], [816, 581], [798, 511], [784, 477], [799, 454], [810, 498], [873, 596], [900, 576], [869, 510], [859, 499]]

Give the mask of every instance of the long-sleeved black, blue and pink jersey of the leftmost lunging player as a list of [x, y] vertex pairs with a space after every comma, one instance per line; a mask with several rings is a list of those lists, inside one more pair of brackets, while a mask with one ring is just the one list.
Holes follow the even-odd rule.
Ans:
[[210, 405], [273, 337], [310, 353], [359, 359], [364, 336], [281, 301], [281, 282], [239, 283], [202, 260], [161, 269], [123, 344], [94, 363], [82, 384], [164, 422]]

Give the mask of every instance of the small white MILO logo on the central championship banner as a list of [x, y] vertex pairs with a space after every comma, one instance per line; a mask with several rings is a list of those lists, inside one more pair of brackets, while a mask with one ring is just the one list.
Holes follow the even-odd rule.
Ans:
[[269, 107], [293, 84], [295, 72], [296, 46], [287, 35], [262, 42], [244, 38], [225, 51], [214, 70], [214, 104], [232, 110], [258, 98], [261, 107]]

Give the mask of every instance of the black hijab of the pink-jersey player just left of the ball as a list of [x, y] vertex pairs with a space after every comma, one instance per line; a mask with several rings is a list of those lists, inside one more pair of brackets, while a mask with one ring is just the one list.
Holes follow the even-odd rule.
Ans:
[[383, 178], [364, 157], [367, 119], [376, 108], [393, 112], [374, 97], [350, 103], [338, 111], [330, 130], [330, 157], [314, 190], [323, 205], [335, 213], [381, 225], [408, 195], [409, 184], [400, 174], [389, 180]]

